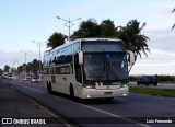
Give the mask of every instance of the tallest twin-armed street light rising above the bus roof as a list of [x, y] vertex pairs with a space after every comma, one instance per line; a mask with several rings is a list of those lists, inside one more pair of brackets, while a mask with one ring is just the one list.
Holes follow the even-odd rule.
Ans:
[[66, 21], [66, 23], [63, 25], [67, 26], [68, 30], [69, 30], [68, 41], [70, 42], [70, 27], [74, 25], [72, 22], [77, 21], [77, 20], [80, 20], [81, 18], [78, 18], [78, 19], [74, 19], [74, 20], [70, 20], [70, 18], [69, 18], [69, 20], [65, 20], [65, 19], [61, 19], [59, 16], [56, 16], [56, 18], [59, 19], [59, 20]]

